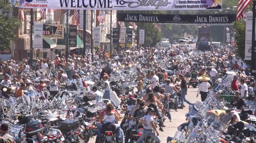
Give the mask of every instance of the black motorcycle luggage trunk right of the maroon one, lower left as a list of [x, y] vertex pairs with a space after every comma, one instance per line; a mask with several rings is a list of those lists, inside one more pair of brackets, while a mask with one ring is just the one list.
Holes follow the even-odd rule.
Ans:
[[59, 123], [59, 129], [61, 132], [75, 131], [76, 129], [79, 129], [79, 120], [67, 119], [65, 121], [61, 121]]

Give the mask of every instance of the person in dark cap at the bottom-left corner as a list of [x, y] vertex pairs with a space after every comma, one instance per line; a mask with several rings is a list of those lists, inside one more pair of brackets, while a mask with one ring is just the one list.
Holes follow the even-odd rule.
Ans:
[[0, 143], [15, 143], [15, 139], [8, 134], [8, 124], [2, 123], [0, 126]]

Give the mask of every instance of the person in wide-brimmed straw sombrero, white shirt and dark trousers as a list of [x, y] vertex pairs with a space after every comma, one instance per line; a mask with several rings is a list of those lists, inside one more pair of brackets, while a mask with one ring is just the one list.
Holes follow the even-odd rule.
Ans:
[[[200, 76], [198, 78], [200, 81], [202, 81], [199, 85], [198, 85], [198, 94], [201, 94], [201, 101], [205, 101], [205, 99], [207, 98], [207, 93], [209, 92], [209, 89], [211, 88], [211, 84], [209, 84], [209, 80], [210, 78], [206, 75], [204, 76]], [[196, 95], [196, 98], [198, 98], [198, 94]]]

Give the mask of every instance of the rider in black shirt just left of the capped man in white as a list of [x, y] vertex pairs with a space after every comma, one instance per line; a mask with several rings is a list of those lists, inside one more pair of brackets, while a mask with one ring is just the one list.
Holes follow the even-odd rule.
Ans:
[[[131, 130], [138, 125], [139, 123], [138, 119], [143, 118], [146, 115], [146, 112], [147, 112], [147, 109], [145, 107], [145, 102], [140, 101], [139, 108], [134, 111], [134, 114], [131, 117], [133, 120], [129, 122], [129, 129], [126, 131], [126, 135], [125, 135], [125, 143], [128, 143]], [[133, 140], [130, 140], [130, 143], [133, 143]]]

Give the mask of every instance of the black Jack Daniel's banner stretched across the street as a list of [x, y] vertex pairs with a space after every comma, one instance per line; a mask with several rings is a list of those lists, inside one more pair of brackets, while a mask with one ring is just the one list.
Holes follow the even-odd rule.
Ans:
[[232, 25], [232, 22], [236, 21], [236, 14], [170, 15], [118, 13], [117, 20], [125, 22], [154, 22], [195, 25]]

